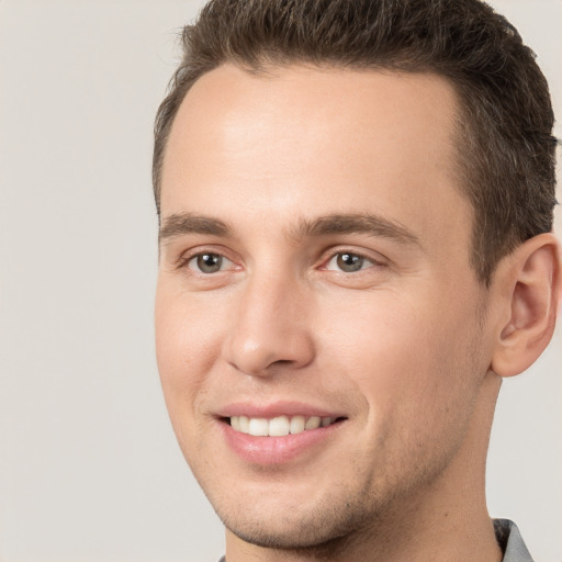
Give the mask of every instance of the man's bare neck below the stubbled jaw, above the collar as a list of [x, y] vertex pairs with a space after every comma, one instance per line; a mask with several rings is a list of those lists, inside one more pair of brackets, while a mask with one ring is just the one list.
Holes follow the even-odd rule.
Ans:
[[227, 562], [501, 562], [485, 502], [485, 457], [499, 385], [499, 376], [488, 372], [456, 457], [438, 479], [393, 502], [375, 522], [297, 550], [257, 547], [227, 530]]

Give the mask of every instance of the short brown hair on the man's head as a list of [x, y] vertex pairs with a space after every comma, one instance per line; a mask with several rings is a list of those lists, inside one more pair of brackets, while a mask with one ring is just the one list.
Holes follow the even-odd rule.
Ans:
[[436, 72], [459, 99], [457, 160], [474, 212], [472, 266], [552, 229], [554, 115], [532, 50], [479, 0], [211, 0], [182, 33], [183, 59], [155, 123], [159, 213], [166, 142], [191, 86], [225, 63], [259, 74], [292, 63]]

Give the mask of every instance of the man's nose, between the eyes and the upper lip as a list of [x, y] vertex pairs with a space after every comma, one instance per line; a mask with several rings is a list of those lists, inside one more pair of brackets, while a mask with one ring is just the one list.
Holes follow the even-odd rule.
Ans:
[[286, 278], [248, 280], [233, 315], [225, 358], [255, 376], [299, 370], [315, 355], [310, 306], [303, 286]]

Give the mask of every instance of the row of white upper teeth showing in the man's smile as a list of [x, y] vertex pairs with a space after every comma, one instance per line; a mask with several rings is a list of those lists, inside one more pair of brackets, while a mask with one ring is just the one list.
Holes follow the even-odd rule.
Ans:
[[301, 434], [306, 429], [326, 427], [334, 423], [335, 417], [319, 416], [279, 416], [272, 419], [261, 417], [232, 416], [231, 426], [236, 431], [257, 437], [282, 437], [289, 434]]

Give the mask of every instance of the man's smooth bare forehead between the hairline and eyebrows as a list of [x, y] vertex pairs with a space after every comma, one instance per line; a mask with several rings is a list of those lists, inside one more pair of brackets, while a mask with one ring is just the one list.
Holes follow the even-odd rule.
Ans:
[[422, 237], [452, 229], [467, 244], [456, 113], [452, 86], [430, 74], [220, 67], [194, 83], [176, 116], [162, 217], [214, 212], [236, 225], [265, 221], [269, 210], [272, 225], [295, 213], [367, 211]]

